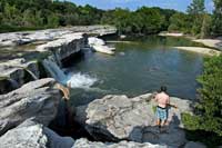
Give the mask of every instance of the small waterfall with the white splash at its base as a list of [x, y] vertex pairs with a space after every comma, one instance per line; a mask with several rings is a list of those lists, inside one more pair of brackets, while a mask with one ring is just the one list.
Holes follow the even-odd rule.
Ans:
[[43, 66], [56, 80], [71, 88], [88, 89], [97, 81], [97, 78], [91, 78], [89, 75], [83, 75], [80, 72], [65, 75], [57, 65], [57, 62], [51, 59], [44, 59]]

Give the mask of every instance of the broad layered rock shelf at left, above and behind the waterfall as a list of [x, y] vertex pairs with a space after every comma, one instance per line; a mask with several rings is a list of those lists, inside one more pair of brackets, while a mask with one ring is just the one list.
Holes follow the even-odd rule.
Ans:
[[87, 34], [115, 32], [114, 27], [89, 26], [0, 33], [0, 95], [33, 80], [29, 77], [30, 71], [38, 79], [41, 68], [37, 61], [50, 57], [58, 66], [68, 66], [88, 45]]

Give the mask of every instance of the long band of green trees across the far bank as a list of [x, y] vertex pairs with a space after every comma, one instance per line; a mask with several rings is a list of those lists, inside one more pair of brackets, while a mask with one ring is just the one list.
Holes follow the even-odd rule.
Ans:
[[200, 38], [222, 34], [222, 1], [209, 14], [204, 0], [193, 0], [188, 12], [142, 7], [135, 11], [101, 10], [68, 1], [0, 0], [0, 32], [65, 26], [113, 24], [119, 33], [184, 32]]

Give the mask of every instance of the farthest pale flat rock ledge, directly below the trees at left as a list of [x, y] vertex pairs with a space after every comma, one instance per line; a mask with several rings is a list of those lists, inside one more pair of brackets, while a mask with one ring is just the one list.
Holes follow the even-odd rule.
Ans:
[[39, 31], [1, 33], [0, 46], [21, 46], [37, 41], [52, 41], [60, 38], [61, 36], [74, 32], [103, 36], [103, 34], [115, 33], [117, 28], [111, 26], [85, 26], [85, 27], [82, 26], [82, 27], [71, 27], [62, 29], [47, 29]]

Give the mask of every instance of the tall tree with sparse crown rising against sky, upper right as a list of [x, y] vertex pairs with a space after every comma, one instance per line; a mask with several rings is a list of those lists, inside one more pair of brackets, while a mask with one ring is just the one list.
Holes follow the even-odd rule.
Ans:
[[204, 0], [193, 0], [192, 3], [188, 7], [188, 13], [191, 17], [192, 24], [192, 34], [193, 36], [200, 36], [201, 28], [203, 23], [203, 17], [204, 17]]

